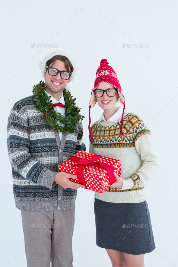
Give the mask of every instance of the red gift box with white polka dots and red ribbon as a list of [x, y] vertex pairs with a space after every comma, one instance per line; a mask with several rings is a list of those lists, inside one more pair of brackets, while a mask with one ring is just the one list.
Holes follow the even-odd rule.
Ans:
[[102, 193], [116, 181], [114, 172], [121, 176], [121, 161], [79, 151], [60, 164], [59, 171], [77, 175], [76, 179], [70, 180]]

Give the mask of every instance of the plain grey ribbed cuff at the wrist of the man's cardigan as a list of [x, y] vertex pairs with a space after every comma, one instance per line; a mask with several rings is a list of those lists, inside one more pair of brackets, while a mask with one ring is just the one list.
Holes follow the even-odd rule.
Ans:
[[52, 190], [53, 187], [56, 185], [56, 183], [54, 182], [56, 174], [57, 174], [56, 172], [53, 172], [52, 170], [46, 169], [43, 172], [40, 179], [38, 179], [38, 183], [41, 186], [45, 186], [45, 187], [49, 188], [50, 190]]

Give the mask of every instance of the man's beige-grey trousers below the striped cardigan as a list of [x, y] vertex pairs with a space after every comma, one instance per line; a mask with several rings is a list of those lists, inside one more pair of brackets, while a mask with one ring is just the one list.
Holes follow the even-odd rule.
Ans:
[[27, 267], [72, 267], [75, 209], [21, 215]]

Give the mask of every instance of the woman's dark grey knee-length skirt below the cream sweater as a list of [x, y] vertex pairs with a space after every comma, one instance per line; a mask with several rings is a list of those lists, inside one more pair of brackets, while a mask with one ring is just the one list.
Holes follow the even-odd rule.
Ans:
[[94, 201], [97, 246], [139, 255], [155, 249], [146, 201], [110, 203]]

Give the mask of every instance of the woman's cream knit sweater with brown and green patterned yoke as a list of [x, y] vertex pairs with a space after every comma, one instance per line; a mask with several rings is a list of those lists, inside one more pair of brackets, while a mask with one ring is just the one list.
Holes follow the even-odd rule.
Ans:
[[95, 198], [114, 203], [138, 203], [145, 201], [144, 186], [157, 172], [159, 162], [151, 142], [150, 131], [141, 118], [124, 113], [114, 122], [101, 120], [91, 126], [90, 153], [112, 157], [121, 161], [121, 189], [109, 187], [103, 193], [95, 192]]

